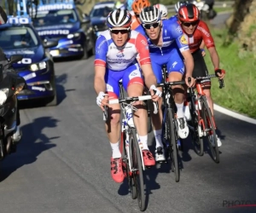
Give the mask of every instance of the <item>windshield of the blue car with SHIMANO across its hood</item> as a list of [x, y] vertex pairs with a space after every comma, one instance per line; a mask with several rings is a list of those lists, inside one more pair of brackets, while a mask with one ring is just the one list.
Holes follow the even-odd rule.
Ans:
[[55, 26], [60, 24], [70, 24], [78, 20], [73, 9], [40, 11], [34, 26]]

